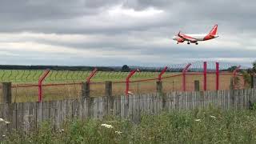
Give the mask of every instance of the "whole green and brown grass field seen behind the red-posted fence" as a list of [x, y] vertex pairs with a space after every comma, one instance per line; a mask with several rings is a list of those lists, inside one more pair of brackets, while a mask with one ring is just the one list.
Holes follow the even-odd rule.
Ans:
[[[15, 87], [22, 84], [37, 84], [38, 78], [43, 74], [43, 70], [0, 70], [0, 82], [12, 82], [14, 88], [12, 91], [13, 102], [34, 102], [38, 100], [38, 87]], [[219, 90], [228, 90], [230, 88], [231, 73], [224, 72], [229, 75], [220, 75]], [[107, 72], [98, 71], [98, 73], [91, 79], [90, 95], [97, 97], [105, 94], [105, 81], [113, 82], [113, 94], [122, 95], [126, 90], [126, 77], [129, 72]], [[135, 73], [130, 81], [137, 81], [149, 78], [158, 78], [159, 72], [138, 72]], [[164, 92], [180, 91], [182, 90], [182, 75], [181, 73], [166, 72], [162, 77], [162, 86]], [[86, 82], [90, 71], [60, 71], [51, 70], [46, 77], [44, 84], [50, 83], [74, 83]], [[178, 75], [175, 77], [170, 77]], [[170, 78], [165, 78], [170, 77]], [[207, 74], [207, 90], [215, 90], [216, 75]], [[242, 87], [242, 77], [240, 87]], [[200, 89], [203, 87], [203, 75], [190, 74], [186, 75], [186, 90], [194, 90], [194, 80], [200, 82]], [[150, 80], [145, 82], [131, 82], [130, 91], [134, 94], [153, 93], [156, 92], [156, 81]], [[62, 85], [62, 86], [43, 86], [43, 99], [54, 100], [63, 98], [80, 97], [82, 91], [81, 84]], [[0, 95], [2, 90], [0, 90]]]

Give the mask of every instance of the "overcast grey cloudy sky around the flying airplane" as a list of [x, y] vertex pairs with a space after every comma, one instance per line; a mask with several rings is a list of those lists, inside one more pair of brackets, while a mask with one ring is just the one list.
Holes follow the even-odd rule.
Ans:
[[[0, 64], [168, 66], [194, 61], [250, 66], [256, 1], [1, 0]], [[171, 38], [206, 34], [198, 46]]]

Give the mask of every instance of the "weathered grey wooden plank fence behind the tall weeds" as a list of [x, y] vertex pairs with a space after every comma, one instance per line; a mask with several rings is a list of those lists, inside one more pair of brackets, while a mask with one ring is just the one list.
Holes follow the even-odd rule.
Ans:
[[5, 121], [1, 120], [0, 132], [2, 135], [8, 130], [30, 131], [43, 121], [52, 122], [54, 128], [58, 129], [60, 124], [69, 118], [103, 118], [109, 114], [120, 118], [131, 118], [136, 122], [143, 113], [159, 114], [162, 110], [192, 110], [209, 105], [239, 110], [248, 108], [250, 103], [254, 102], [256, 102], [256, 89], [5, 103], [0, 105], [0, 118]]

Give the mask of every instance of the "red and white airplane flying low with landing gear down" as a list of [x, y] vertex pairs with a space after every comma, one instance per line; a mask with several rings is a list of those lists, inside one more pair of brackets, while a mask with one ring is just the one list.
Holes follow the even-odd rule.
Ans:
[[206, 41], [213, 38], [218, 38], [217, 30], [218, 25], [215, 25], [214, 28], [210, 30], [209, 34], [181, 34], [181, 32], [178, 32], [178, 34], [173, 37], [173, 40], [177, 41], [177, 44], [179, 42], [187, 41], [188, 45], [190, 42], [198, 45], [198, 41]]

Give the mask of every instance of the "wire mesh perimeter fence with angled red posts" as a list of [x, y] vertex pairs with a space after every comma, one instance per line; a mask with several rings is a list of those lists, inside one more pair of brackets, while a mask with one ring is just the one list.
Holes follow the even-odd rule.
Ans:
[[[12, 102], [42, 102], [81, 97], [111, 95], [149, 94], [171, 91], [230, 90], [246, 87], [240, 66], [232, 72], [216, 69], [208, 70], [203, 62], [202, 71], [190, 70], [191, 64], [182, 67], [180, 72], [172, 72], [170, 67], [158, 72], [134, 69], [121, 71], [69, 71], [69, 70], [0, 70], [0, 82], [11, 82]], [[5, 83], [6, 84], [6, 83]], [[7, 83], [8, 84], [8, 83]], [[0, 85], [2, 98], [2, 83]], [[2, 101], [2, 100], [1, 100]]]

